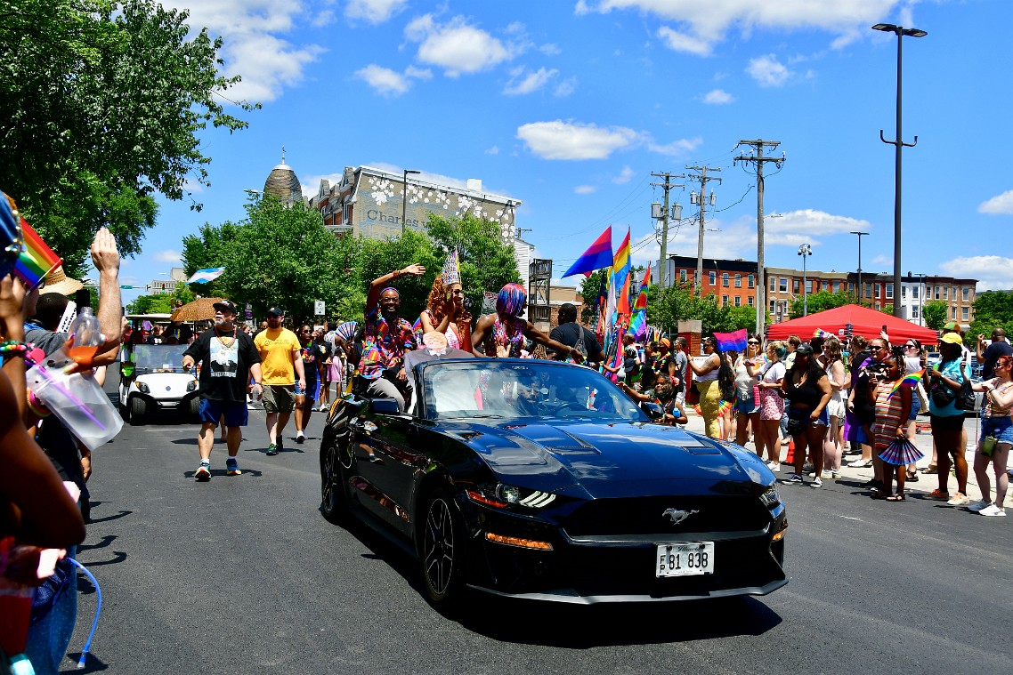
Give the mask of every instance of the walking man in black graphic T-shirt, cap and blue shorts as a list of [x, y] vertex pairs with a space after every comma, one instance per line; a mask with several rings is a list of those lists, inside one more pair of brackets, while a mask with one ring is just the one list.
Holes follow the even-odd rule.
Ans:
[[253, 376], [253, 394], [260, 396], [263, 386], [260, 378], [260, 354], [253, 347], [253, 339], [234, 325], [236, 306], [231, 301], [215, 303], [215, 325], [198, 337], [183, 352], [183, 367], [191, 368], [202, 361], [201, 367], [201, 432], [197, 437], [201, 451], [201, 465], [193, 473], [198, 481], [211, 480], [211, 448], [215, 445], [215, 428], [225, 417], [228, 429], [229, 458], [225, 460], [226, 473], [239, 476], [239, 443], [246, 426], [246, 383]]

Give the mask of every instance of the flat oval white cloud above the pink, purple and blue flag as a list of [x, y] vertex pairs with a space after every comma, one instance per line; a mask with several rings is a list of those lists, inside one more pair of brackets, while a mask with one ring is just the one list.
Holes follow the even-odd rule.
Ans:
[[563, 121], [535, 121], [517, 130], [517, 138], [542, 159], [607, 159], [613, 152], [627, 148], [639, 135], [625, 126], [602, 128], [596, 124]]

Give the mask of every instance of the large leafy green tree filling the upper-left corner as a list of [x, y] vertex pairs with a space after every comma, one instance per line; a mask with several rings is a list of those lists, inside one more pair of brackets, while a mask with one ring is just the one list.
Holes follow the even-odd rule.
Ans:
[[100, 225], [138, 253], [154, 193], [200, 208], [187, 184], [209, 184], [211, 159], [197, 136], [246, 126], [219, 102], [239, 82], [219, 74], [221, 38], [153, 0], [7, 0], [0, 15], [0, 153], [17, 158], [0, 185], [68, 274]]

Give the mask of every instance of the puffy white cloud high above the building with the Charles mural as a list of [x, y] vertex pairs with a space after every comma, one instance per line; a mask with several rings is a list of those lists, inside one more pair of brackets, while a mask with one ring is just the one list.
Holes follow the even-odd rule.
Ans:
[[448, 77], [486, 70], [523, 51], [519, 45], [504, 45], [481, 28], [469, 25], [463, 16], [438, 23], [432, 14], [425, 14], [412, 20], [404, 33], [408, 39], [419, 43], [418, 60], [443, 68]]

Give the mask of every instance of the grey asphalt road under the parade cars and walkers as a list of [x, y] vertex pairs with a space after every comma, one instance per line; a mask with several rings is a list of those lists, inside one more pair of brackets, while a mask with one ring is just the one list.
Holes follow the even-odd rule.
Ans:
[[[318, 511], [319, 436], [264, 454], [251, 412], [243, 475], [194, 483], [197, 426], [125, 427], [94, 453], [66, 672], [851, 673], [1013, 672], [1013, 518], [935, 502], [874, 502], [857, 482], [784, 486], [791, 582], [764, 598], [571, 607], [476, 596], [448, 618], [416, 564]], [[294, 427], [290, 427], [294, 432]]]

